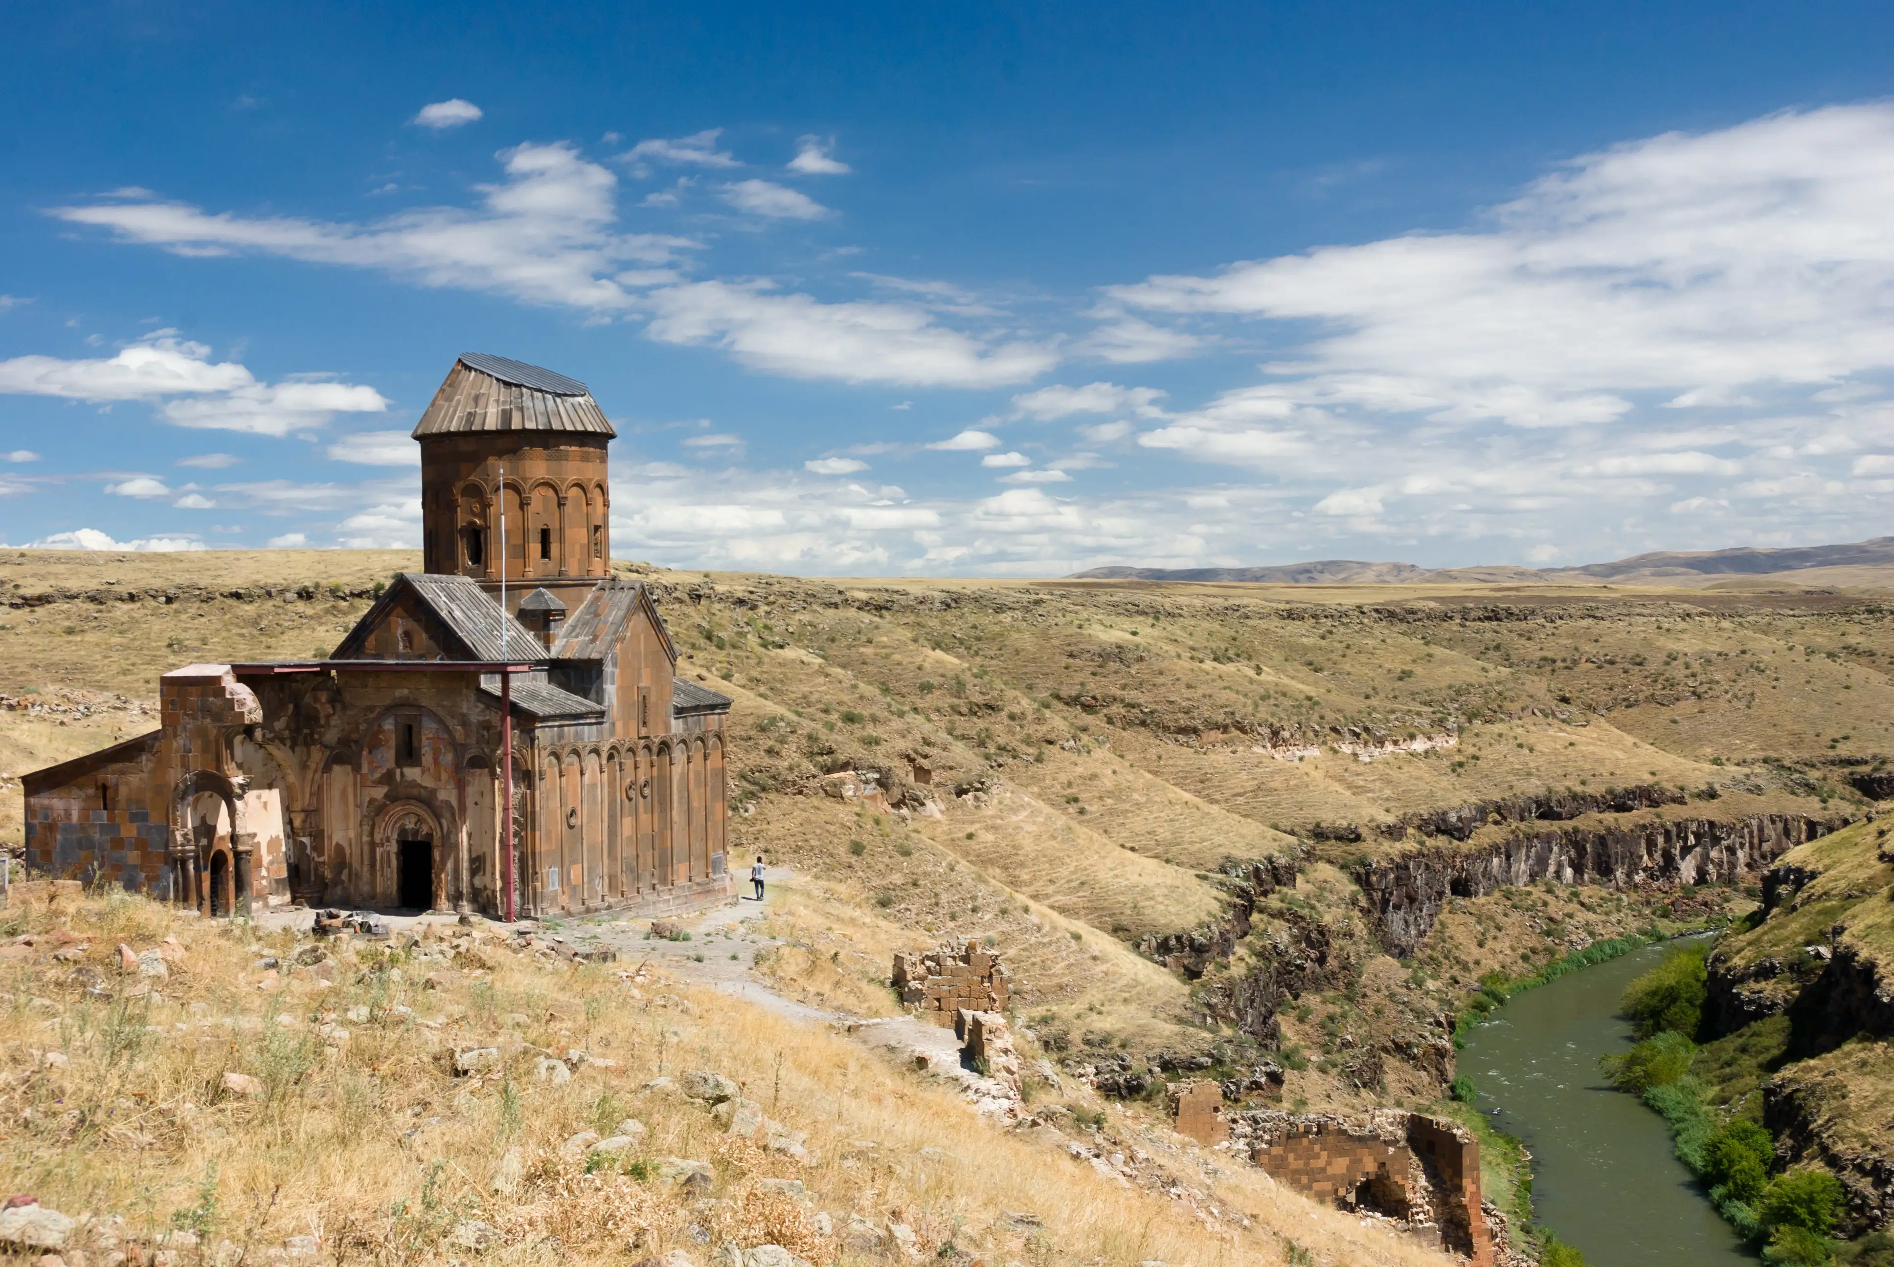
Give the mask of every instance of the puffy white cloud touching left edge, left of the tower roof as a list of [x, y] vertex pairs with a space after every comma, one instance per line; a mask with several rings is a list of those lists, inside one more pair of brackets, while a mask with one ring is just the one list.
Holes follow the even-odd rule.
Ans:
[[388, 402], [371, 386], [313, 375], [258, 383], [235, 362], [212, 362], [203, 343], [157, 330], [102, 360], [15, 356], [0, 362], [0, 392], [87, 402], [148, 400], [176, 426], [259, 436], [324, 426], [337, 413], [381, 413]]

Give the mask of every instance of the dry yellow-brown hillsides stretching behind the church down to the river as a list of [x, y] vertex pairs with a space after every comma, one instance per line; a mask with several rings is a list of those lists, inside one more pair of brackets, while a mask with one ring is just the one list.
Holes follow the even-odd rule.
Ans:
[[[0, 769], [150, 729], [155, 674], [178, 663], [326, 653], [398, 566], [419, 557], [0, 553]], [[890, 1015], [894, 951], [994, 937], [1021, 1042], [1114, 1112], [1155, 1115], [1191, 1074], [1288, 1108], [1474, 1125], [1449, 1087], [1455, 1025], [1481, 1000], [1739, 920], [1705, 987], [1727, 1038], [1691, 1068], [1710, 1085], [1722, 1061], [1758, 1121], [1771, 1095], [1799, 1106], [1771, 1127], [1769, 1172], [1839, 1174], [1831, 1231], [1864, 1246], [1885, 1222], [1858, 1193], [1886, 1191], [1894, 1112], [1854, 1091], [1885, 1030], [1769, 1066], [1790, 1004], [1845, 951], [1869, 981], [1879, 964], [1852, 934], [1805, 951], [1847, 922], [1837, 903], [1867, 922], [1890, 905], [1886, 864], [1843, 877], [1824, 852], [1866, 837], [1873, 858], [1866, 816], [1894, 790], [1879, 593], [616, 570], [652, 585], [680, 674], [737, 701], [733, 848], [803, 877], [761, 968], [780, 992]], [[17, 782], [0, 788], [17, 845]], [[1814, 879], [1763, 883], [1799, 856]], [[1756, 1015], [1725, 1015], [1725, 977]], [[1809, 1061], [1835, 1078], [1805, 1085]], [[1489, 1138], [1483, 1157], [1527, 1225], [1517, 1150]]]

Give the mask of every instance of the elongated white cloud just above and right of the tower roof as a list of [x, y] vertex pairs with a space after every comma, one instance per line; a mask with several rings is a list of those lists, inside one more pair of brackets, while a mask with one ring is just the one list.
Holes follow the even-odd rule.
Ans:
[[710, 345], [797, 379], [1006, 386], [1057, 362], [1044, 345], [989, 345], [896, 303], [818, 303], [765, 284], [689, 282], [652, 295], [661, 343]]

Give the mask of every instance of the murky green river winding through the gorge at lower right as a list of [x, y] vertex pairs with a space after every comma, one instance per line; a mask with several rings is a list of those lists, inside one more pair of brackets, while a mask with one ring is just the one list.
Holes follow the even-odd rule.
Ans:
[[1663, 1117], [1599, 1072], [1600, 1055], [1631, 1047], [1617, 1017], [1625, 985], [1665, 949], [1517, 994], [1468, 1036], [1460, 1072], [1477, 1083], [1489, 1121], [1532, 1151], [1534, 1220], [1591, 1267], [1754, 1267], [1671, 1151]]

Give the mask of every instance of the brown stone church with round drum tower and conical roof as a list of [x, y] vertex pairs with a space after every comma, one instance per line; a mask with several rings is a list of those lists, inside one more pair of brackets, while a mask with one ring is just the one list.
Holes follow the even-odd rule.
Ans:
[[28, 865], [205, 915], [729, 900], [731, 701], [610, 576], [612, 437], [583, 383], [460, 356], [415, 426], [424, 570], [328, 659], [174, 669], [159, 729], [27, 775]]

